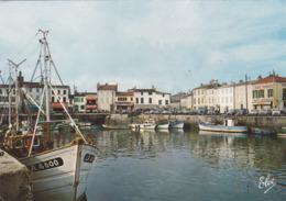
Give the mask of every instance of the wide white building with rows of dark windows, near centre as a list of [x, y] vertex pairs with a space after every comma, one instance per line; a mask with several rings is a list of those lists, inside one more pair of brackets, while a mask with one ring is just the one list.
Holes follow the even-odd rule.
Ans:
[[170, 93], [157, 91], [153, 86], [152, 89], [129, 89], [134, 92], [134, 108], [136, 109], [154, 109], [169, 108]]

